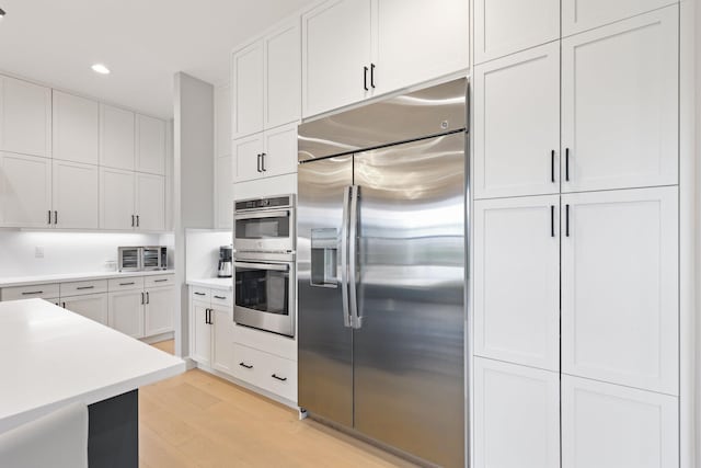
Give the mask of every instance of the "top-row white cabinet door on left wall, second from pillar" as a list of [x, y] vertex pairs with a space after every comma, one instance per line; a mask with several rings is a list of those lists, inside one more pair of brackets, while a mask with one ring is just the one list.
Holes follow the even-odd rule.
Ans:
[[100, 165], [134, 171], [134, 112], [100, 104]]

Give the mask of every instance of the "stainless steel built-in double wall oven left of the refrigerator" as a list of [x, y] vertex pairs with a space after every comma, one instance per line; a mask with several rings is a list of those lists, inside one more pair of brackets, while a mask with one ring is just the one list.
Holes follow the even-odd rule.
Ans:
[[294, 336], [295, 195], [237, 201], [233, 219], [233, 320]]

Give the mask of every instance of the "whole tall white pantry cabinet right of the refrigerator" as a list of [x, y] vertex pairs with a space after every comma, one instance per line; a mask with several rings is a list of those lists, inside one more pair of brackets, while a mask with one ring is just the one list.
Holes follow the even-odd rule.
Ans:
[[679, 5], [521, 3], [474, 3], [473, 460], [678, 467]]

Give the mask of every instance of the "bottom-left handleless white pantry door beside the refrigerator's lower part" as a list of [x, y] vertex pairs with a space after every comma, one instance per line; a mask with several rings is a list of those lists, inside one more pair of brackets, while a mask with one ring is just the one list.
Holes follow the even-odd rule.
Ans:
[[473, 450], [480, 468], [560, 468], [560, 375], [476, 357]]

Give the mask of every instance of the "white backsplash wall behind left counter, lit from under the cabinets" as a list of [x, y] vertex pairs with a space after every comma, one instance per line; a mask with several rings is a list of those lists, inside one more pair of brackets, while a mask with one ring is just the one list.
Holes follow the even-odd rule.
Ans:
[[[119, 246], [172, 246], [172, 236], [106, 232], [0, 231], [0, 277], [108, 271]], [[44, 258], [36, 258], [36, 248]]]

